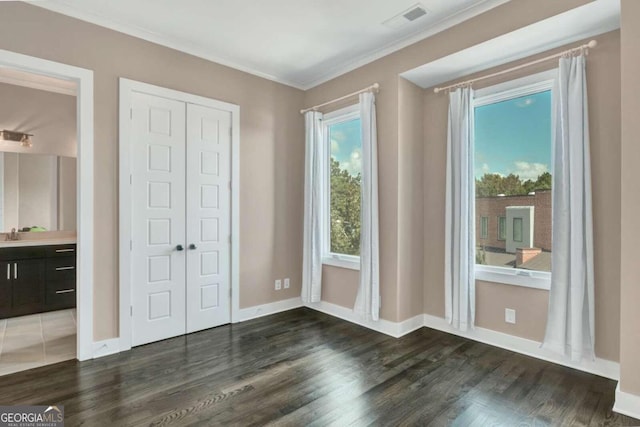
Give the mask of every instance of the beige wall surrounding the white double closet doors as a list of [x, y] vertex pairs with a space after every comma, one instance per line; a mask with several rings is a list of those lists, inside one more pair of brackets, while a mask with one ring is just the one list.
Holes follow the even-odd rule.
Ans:
[[0, 2], [0, 49], [94, 72], [95, 340], [118, 335], [119, 77], [240, 105], [240, 303], [300, 295], [302, 91], [22, 2]]

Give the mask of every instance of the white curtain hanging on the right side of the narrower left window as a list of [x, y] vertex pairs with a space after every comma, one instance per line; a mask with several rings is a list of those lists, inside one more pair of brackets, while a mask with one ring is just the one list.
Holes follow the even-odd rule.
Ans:
[[380, 314], [378, 230], [378, 134], [375, 96], [360, 94], [362, 123], [362, 189], [360, 212], [360, 285], [354, 311], [369, 320]]

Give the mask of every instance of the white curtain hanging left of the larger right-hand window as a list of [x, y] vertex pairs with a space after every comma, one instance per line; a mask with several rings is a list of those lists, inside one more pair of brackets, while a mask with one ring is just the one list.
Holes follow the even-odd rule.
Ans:
[[449, 94], [445, 206], [445, 315], [466, 331], [475, 321], [475, 201], [473, 90]]

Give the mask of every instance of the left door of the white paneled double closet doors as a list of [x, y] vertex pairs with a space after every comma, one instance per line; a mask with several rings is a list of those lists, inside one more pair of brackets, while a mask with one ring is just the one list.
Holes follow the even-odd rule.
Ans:
[[133, 94], [133, 345], [186, 331], [185, 103]]

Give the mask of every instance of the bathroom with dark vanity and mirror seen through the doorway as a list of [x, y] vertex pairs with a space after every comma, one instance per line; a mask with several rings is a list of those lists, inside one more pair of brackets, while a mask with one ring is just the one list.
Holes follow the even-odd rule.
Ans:
[[76, 358], [76, 83], [0, 67], [0, 375]]

